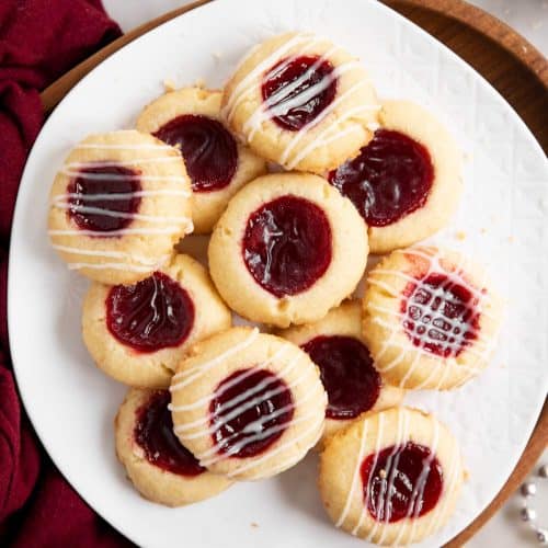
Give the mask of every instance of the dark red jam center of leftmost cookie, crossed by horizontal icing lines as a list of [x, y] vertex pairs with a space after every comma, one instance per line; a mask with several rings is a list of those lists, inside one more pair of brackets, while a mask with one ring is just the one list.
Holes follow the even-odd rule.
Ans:
[[109, 232], [130, 225], [140, 204], [140, 173], [123, 165], [81, 168], [67, 186], [68, 215], [81, 230]]

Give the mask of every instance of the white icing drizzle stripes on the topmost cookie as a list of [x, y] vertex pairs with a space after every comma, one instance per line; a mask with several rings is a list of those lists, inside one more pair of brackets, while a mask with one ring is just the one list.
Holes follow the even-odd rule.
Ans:
[[[282, 44], [282, 46], [279, 46], [276, 50], [274, 50], [266, 59], [264, 59], [261, 64], [259, 64], [252, 71], [250, 71], [250, 73], [242, 79], [242, 81], [235, 88], [232, 94], [228, 98], [227, 104], [222, 111], [222, 114], [227, 119], [227, 122], [231, 121], [236, 110], [238, 109], [238, 105], [254, 92], [256, 87], [256, 79], [261, 75], [263, 75], [266, 70], [272, 68], [276, 64], [276, 61], [283, 58], [286, 52], [298, 46], [299, 44], [305, 43], [298, 50], [296, 50], [289, 57], [284, 59], [283, 62], [281, 62], [279, 66], [276, 68], [276, 71], [283, 70], [293, 60], [305, 55], [307, 52], [312, 49], [312, 47], [318, 42], [321, 42], [321, 39], [310, 34], [297, 34], [285, 44]], [[243, 132], [247, 133], [248, 141], [251, 141], [253, 139], [255, 133], [261, 128], [262, 124], [265, 121], [272, 119], [275, 116], [284, 115], [292, 109], [306, 104], [310, 99], [326, 91], [335, 79], [359, 66], [359, 62], [355, 60], [351, 60], [340, 66], [336, 66], [332, 72], [326, 75], [319, 82], [302, 90], [297, 95], [289, 98], [289, 95], [307, 80], [307, 78], [309, 77], [310, 73], [313, 72], [313, 70], [320, 67], [324, 60], [329, 60], [329, 58], [333, 55], [333, 53], [336, 49], [339, 49], [339, 46], [333, 46], [330, 49], [328, 49], [302, 76], [297, 78], [294, 82], [290, 82], [287, 85], [281, 88], [278, 91], [272, 94], [266, 101], [261, 102], [261, 104], [249, 116], [249, 118], [242, 126]], [[351, 118], [352, 116], [361, 112], [378, 111], [380, 110], [380, 105], [363, 104], [354, 109], [350, 109], [341, 116], [334, 116], [333, 121], [323, 132], [321, 132], [315, 139], [312, 139], [312, 141], [309, 145], [307, 145], [307, 147], [300, 150], [300, 152], [298, 152], [295, 156], [295, 158], [289, 159], [292, 152], [295, 150], [297, 145], [312, 127], [323, 122], [343, 101], [347, 100], [347, 98], [351, 94], [355, 93], [359, 88], [367, 84], [368, 80], [365, 79], [355, 83], [344, 93], [340, 94], [326, 109], [323, 109], [323, 111], [321, 111], [318, 114], [318, 116], [315, 117], [315, 119], [312, 119], [309, 124], [305, 125], [302, 128], [296, 132], [295, 136], [288, 141], [287, 146], [285, 147], [285, 149], [281, 155], [281, 163], [284, 164], [287, 169], [294, 169], [299, 162], [301, 162], [306, 157], [308, 157], [312, 151], [315, 151], [319, 147], [326, 146], [329, 142], [341, 139], [342, 137], [352, 132], [361, 130], [361, 127], [357, 125], [352, 125], [351, 127], [345, 128], [343, 130], [340, 130], [339, 128], [341, 122], [343, 122], [344, 119]]]

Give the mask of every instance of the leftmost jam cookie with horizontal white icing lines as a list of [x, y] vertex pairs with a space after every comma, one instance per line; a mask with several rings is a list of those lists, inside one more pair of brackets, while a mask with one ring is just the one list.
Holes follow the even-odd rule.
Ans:
[[178, 149], [135, 130], [91, 135], [55, 178], [52, 244], [84, 276], [133, 284], [192, 231], [191, 194]]

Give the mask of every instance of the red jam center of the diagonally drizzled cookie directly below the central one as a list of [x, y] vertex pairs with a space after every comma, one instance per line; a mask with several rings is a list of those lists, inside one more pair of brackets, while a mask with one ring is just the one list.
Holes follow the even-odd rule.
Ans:
[[292, 391], [266, 369], [240, 369], [217, 387], [209, 404], [217, 453], [253, 457], [287, 429], [294, 414]]

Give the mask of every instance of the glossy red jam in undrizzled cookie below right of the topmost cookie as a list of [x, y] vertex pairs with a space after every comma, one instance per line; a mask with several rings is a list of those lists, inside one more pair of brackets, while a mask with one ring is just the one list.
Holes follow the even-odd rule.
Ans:
[[399, 132], [377, 129], [359, 155], [328, 179], [352, 201], [367, 225], [385, 227], [424, 206], [434, 167], [420, 142]]

